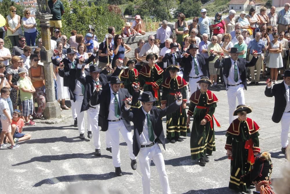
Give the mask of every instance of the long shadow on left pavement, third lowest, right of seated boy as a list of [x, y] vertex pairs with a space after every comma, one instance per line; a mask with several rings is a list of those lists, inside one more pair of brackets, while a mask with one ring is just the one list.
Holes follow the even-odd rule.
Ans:
[[89, 139], [79, 139], [79, 137], [71, 137], [67, 138], [66, 136], [62, 137], [52, 137], [52, 138], [41, 138], [41, 139], [30, 139], [27, 141], [19, 142], [18, 144], [29, 144], [29, 143], [55, 143], [55, 142], [67, 142], [67, 143], [73, 143], [73, 142], [81, 142], [81, 141], [90, 141]]

